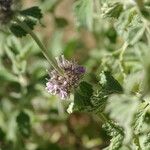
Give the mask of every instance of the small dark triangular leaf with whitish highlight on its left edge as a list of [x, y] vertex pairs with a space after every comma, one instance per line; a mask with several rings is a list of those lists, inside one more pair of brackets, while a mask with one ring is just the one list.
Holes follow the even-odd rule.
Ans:
[[110, 72], [105, 71], [100, 74], [100, 84], [103, 91], [108, 93], [122, 93], [123, 88], [120, 83], [111, 75]]

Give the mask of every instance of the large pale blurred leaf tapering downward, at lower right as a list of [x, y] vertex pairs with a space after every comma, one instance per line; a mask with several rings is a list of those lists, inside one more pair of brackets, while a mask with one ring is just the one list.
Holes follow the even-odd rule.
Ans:
[[108, 98], [106, 112], [125, 129], [125, 141], [130, 141], [131, 123], [138, 107], [137, 97], [128, 94], [113, 94]]

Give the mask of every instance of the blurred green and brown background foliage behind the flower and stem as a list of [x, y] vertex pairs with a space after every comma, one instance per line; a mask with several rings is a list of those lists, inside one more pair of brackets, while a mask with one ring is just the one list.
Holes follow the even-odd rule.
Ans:
[[[144, 4], [149, 10], [150, 3]], [[148, 12], [142, 16], [132, 0], [22, 0], [18, 5], [41, 8], [36, 34], [54, 57], [64, 54], [86, 66], [84, 80], [96, 86], [101, 71], [109, 70], [122, 84], [124, 93], [109, 97], [106, 112], [126, 130], [122, 149], [132, 149], [131, 122], [140, 103], [133, 93], [150, 89]], [[49, 69], [29, 36], [19, 39], [0, 29], [0, 149], [101, 150], [109, 145], [97, 116], [68, 114], [73, 95], [61, 101], [45, 91]], [[149, 118], [147, 112], [143, 141]]]

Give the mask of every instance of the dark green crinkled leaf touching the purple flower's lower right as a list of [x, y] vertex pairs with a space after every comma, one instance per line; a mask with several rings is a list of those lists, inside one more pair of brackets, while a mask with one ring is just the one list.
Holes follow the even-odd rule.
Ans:
[[73, 110], [93, 112], [104, 111], [108, 95], [103, 91], [94, 91], [92, 85], [81, 82], [74, 94]]

